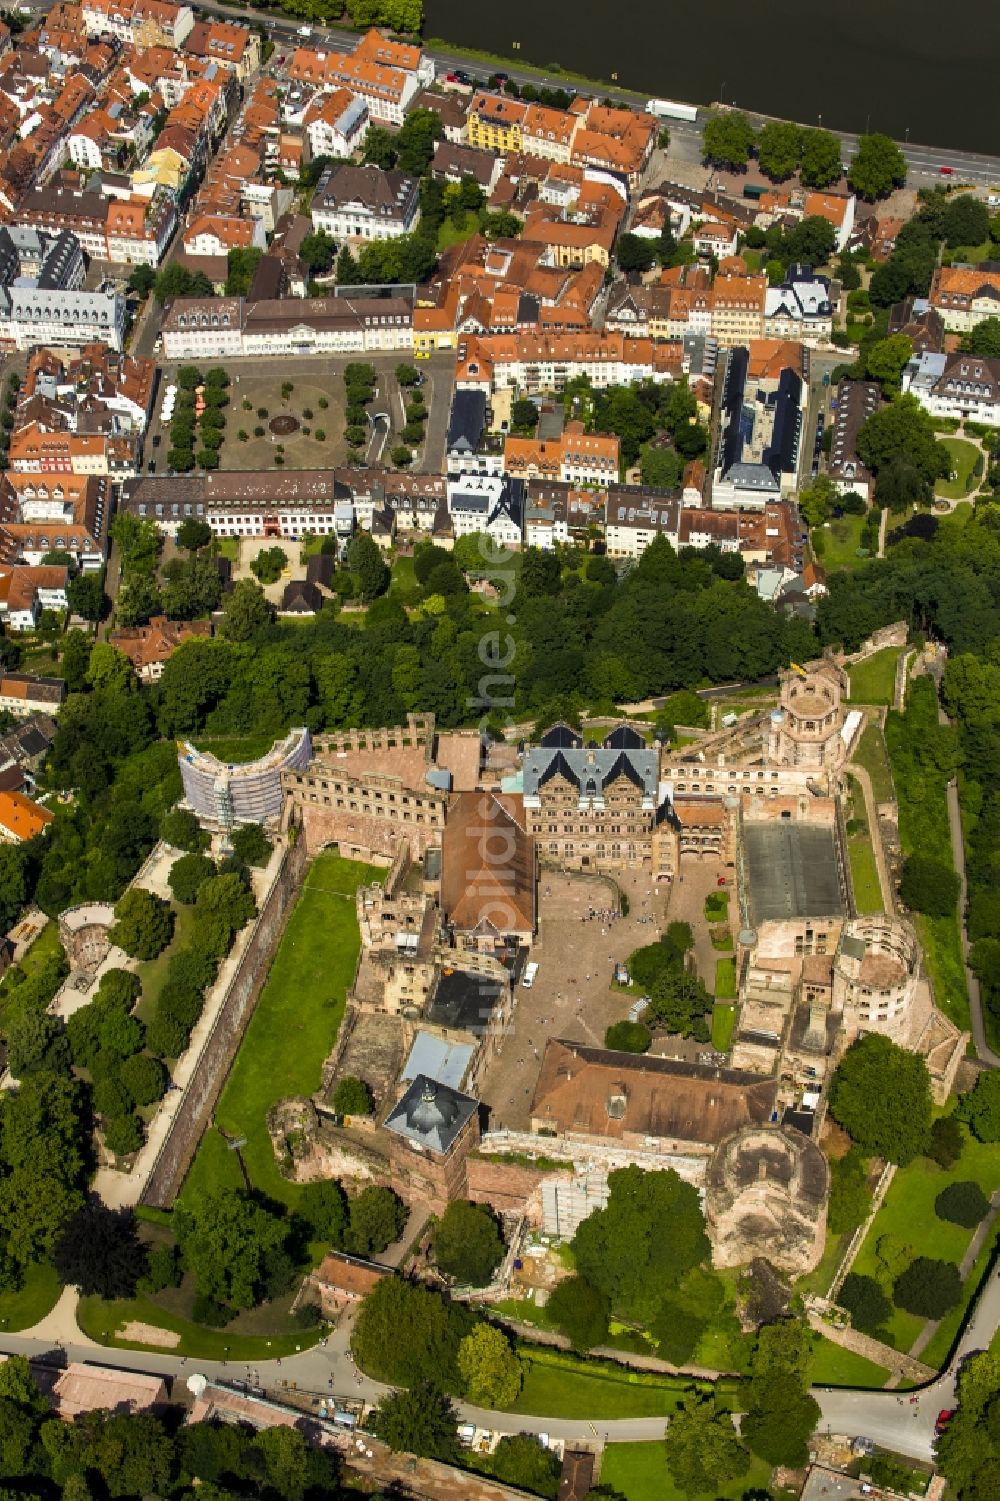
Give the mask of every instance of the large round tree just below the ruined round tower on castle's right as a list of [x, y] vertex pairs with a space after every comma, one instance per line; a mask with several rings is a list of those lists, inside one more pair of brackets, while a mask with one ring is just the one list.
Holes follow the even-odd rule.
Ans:
[[833, 1075], [830, 1115], [862, 1151], [905, 1166], [931, 1133], [931, 1085], [923, 1058], [889, 1037], [859, 1037]]

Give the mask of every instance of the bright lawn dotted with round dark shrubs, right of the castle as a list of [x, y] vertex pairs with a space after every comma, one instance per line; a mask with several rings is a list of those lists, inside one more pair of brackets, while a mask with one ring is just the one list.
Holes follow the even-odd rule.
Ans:
[[[983, 1145], [967, 1136], [961, 1160], [947, 1171], [928, 1157], [917, 1157], [907, 1168], [901, 1168], [889, 1184], [889, 1192], [851, 1270], [869, 1277], [878, 1276], [875, 1246], [881, 1235], [901, 1235], [913, 1246], [914, 1255], [958, 1264], [973, 1231], [938, 1219], [934, 1213], [934, 1199], [949, 1183], [964, 1180], [979, 1183], [986, 1198], [1000, 1189], [1000, 1153], [994, 1145]], [[889, 1321], [896, 1349], [910, 1349], [922, 1328], [923, 1319], [901, 1309], [895, 1309]]]

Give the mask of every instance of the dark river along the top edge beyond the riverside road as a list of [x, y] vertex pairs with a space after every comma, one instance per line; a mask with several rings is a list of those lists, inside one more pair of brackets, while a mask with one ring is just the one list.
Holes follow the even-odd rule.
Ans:
[[[425, 0], [423, 35], [623, 89], [1000, 155], [1000, 6], [965, 0]], [[946, 24], [947, 23], [947, 24]], [[520, 42], [520, 50], [512, 47]]]

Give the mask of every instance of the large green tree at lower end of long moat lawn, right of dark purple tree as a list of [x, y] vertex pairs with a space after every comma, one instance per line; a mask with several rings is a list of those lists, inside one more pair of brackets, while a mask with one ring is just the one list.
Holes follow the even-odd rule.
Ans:
[[267, 1256], [284, 1249], [287, 1232], [284, 1220], [242, 1189], [195, 1193], [177, 1222], [198, 1291], [237, 1309], [260, 1301]]

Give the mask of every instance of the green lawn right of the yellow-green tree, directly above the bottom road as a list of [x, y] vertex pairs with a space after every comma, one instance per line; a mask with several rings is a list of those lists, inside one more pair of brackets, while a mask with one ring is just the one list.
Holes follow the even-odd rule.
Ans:
[[542, 1352], [521, 1349], [524, 1385], [511, 1412], [536, 1412], [539, 1417], [595, 1418], [667, 1417], [680, 1402], [685, 1378], [649, 1376], [622, 1367], [577, 1363], [566, 1355], [557, 1360]]

